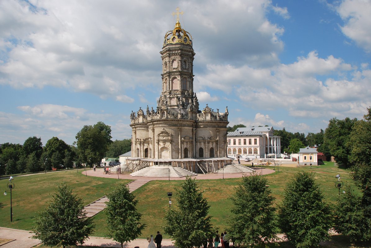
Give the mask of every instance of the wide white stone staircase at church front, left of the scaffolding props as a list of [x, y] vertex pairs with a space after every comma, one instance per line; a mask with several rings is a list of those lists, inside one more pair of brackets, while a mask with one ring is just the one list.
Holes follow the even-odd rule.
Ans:
[[148, 166], [130, 174], [131, 176], [174, 177], [197, 176], [196, 173], [173, 166]]

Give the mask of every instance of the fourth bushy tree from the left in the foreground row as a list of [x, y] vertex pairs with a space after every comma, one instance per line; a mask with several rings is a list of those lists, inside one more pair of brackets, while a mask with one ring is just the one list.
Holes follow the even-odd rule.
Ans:
[[243, 176], [232, 196], [230, 235], [239, 247], [255, 247], [277, 238], [275, 208], [267, 179]]

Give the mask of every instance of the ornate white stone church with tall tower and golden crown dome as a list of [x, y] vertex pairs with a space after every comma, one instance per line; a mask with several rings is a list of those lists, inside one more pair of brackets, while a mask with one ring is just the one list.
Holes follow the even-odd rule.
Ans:
[[[228, 108], [216, 111], [207, 104], [200, 110], [193, 92], [194, 50], [192, 36], [179, 18], [164, 37], [162, 92], [155, 109], [139, 108], [130, 115], [132, 160], [146, 166], [173, 165], [189, 171], [221, 168], [227, 158]], [[143, 165], [144, 166], [144, 165]], [[143, 167], [142, 166], [142, 167]]]

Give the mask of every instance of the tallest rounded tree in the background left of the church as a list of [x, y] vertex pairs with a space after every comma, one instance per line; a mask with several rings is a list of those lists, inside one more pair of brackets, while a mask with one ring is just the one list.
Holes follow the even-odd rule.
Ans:
[[84, 126], [76, 134], [79, 158], [90, 166], [93, 163], [98, 164], [108, 151], [111, 138], [111, 127], [103, 122]]

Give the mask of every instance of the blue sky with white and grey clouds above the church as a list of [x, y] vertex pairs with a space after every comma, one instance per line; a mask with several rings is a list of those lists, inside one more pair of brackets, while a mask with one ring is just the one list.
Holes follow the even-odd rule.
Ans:
[[131, 138], [177, 7], [200, 110], [228, 106], [229, 126], [317, 133], [371, 106], [371, 0], [1, 0], [0, 143], [72, 145], [99, 121]]

